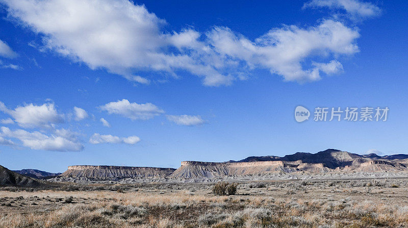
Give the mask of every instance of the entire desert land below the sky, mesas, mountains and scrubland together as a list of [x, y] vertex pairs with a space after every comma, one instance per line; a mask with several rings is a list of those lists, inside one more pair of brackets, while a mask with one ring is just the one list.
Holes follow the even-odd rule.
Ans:
[[327, 149], [178, 169], [0, 166], [0, 227], [408, 227], [407, 158]]

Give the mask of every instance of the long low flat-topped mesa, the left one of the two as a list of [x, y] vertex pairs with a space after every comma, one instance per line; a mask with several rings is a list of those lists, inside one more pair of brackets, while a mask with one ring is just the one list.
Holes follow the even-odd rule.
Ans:
[[60, 176], [91, 179], [114, 179], [114, 178], [164, 178], [171, 174], [173, 168], [156, 167], [130, 167], [130, 166], [107, 166], [107, 165], [73, 165]]

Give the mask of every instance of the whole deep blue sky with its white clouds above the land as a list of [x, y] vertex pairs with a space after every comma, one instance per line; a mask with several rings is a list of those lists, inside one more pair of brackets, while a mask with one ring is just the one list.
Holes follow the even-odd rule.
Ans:
[[[10, 169], [408, 153], [405, 1], [0, 3]], [[298, 123], [299, 105], [390, 111]]]

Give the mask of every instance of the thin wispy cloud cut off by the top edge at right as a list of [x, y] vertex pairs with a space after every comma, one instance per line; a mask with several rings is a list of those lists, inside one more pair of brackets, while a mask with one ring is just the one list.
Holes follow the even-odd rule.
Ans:
[[303, 8], [327, 7], [330, 9], [341, 9], [351, 17], [351, 19], [373, 17], [381, 13], [377, 6], [360, 0], [312, 0], [305, 3]]

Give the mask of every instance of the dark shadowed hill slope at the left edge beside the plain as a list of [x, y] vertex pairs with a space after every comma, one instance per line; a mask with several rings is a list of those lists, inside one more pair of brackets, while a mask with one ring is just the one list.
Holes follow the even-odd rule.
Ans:
[[0, 186], [39, 187], [43, 181], [13, 172], [0, 165]]

